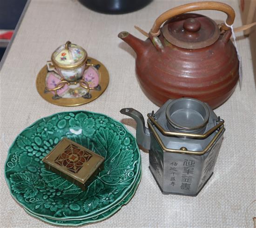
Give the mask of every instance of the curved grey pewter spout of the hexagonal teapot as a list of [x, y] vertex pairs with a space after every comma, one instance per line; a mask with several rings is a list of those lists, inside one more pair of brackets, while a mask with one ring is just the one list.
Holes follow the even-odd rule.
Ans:
[[120, 112], [124, 115], [132, 117], [137, 123], [136, 140], [139, 145], [145, 149], [150, 148], [150, 134], [148, 128], [145, 127], [145, 120], [142, 114], [133, 108], [124, 108]]

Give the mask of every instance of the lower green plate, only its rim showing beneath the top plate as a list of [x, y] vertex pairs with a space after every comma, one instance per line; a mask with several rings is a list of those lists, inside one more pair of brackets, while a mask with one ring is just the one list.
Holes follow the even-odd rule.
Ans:
[[138, 176], [138, 180], [135, 183], [135, 186], [133, 187], [133, 189], [131, 189], [129, 191], [128, 195], [121, 202], [119, 202], [115, 207], [109, 208], [106, 212], [101, 213], [100, 215], [95, 215], [91, 218], [79, 219], [79, 220], [69, 220], [69, 221], [63, 221], [63, 220], [56, 221], [56, 220], [47, 219], [44, 217], [34, 215], [31, 212], [27, 211], [26, 209], [25, 209], [25, 211], [29, 215], [32, 215], [42, 221], [45, 221], [47, 223], [51, 223], [54, 225], [58, 225], [58, 226], [81, 226], [81, 225], [92, 223], [92, 222], [99, 222], [99, 221], [105, 220], [105, 219], [109, 218], [110, 216], [114, 215], [118, 210], [121, 209], [122, 206], [126, 205], [134, 196], [135, 191], [136, 191], [140, 181], [141, 181], [141, 170], [140, 170], [140, 174]]

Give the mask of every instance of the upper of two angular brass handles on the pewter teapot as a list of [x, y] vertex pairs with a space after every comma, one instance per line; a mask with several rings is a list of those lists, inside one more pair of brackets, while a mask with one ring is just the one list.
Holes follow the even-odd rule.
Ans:
[[152, 117], [148, 113], [148, 119], [156, 126], [156, 128], [166, 136], [182, 136], [182, 137], [191, 137], [191, 138], [206, 138], [208, 137], [211, 133], [216, 131], [219, 127], [221, 127], [224, 124], [224, 120], [221, 120], [220, 123], [216, 124], [213, 128], [208, 130], [204, 134], [190, 134], [190, 133], [182, 133], [182, 132], [173, 132], [173, 131], [167, 131], [162, 128], [160, 124], [157, 123], [154, 117]]

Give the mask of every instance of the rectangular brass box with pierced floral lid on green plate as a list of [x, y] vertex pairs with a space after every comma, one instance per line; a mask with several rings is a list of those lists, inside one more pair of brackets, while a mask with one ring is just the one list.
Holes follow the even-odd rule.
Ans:
[[104, 157], [63, 138], [42, 161], [45, 167], [73, 182], [82, 190], [103, 169]]

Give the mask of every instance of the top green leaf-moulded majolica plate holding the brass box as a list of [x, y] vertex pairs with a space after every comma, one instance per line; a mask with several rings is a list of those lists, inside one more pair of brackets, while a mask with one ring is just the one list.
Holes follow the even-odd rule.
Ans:
[[[105, 157], [104, 170], [86, 191], [44, 168], [41, 159], [61, 138]], [[102, 114], [75, 111], [41, 118], [23, 130], [9, 149], [5, 175], [24, 208], [53, 220], [78, 219], [118, 204], [134, 186], [141, 166], [135, 138]]]

